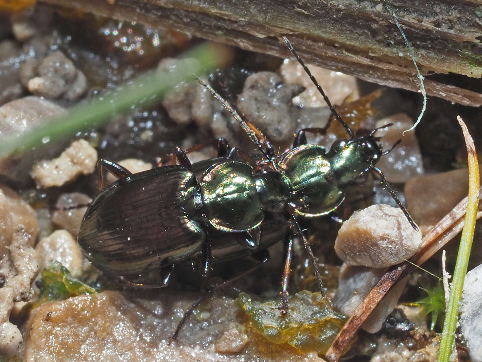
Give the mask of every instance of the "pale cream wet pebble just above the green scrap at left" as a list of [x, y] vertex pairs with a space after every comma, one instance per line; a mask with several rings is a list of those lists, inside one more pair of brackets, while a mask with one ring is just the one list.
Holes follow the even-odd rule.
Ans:
[[79, 244], [67, 230], [56, 230], [35, 246], [40, 256], [39, 273], [49, 260], [62, 263], [74, 277], [82, 274], [83, 256]]

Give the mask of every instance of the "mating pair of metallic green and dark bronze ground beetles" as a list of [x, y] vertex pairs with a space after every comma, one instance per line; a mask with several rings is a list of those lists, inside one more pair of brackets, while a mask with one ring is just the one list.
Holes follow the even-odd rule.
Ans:
[[[195, 263], [205, 276], [212, 262], [245, 255], [265, 262], [266, 249], [284, 240], [287, 252], [280, 310], [286, 314], [294, 236], [301, 237], [324, 295], [315, 257], [297, 215], [317, 217], [332, 212], [343, 202], [344, 189], [363, 173], [373, 170], [417, 229], [382, 172], [374, 166], [380, 156], [389, 152], [380, 150], [376, 129], [369, 136], [356, 138], [290, 42], [283, 39], [335, 118], [347, 129], [349, 139], [337, 140], [326, 153], [323, 147], [308, 144], [305, 136], [307, 132], [324, 133], [326, 127], [302, 129], [291, 150], [275, 155], [268, 139], [198, 78], [240, 123], [261, 154], [243, 153], [235, 147], [229, 148], [225, 139], [218, 139], [219, 157], [196, 164], [191, 164], [186, 154], [207, 144], [186, 151], [176, 147], [172, 166], [136, 174], [100, 160], [100, 187], [103, 187], [103, 169], [119, 180], [104, 188], [91, 203], [78, 237], [80, 247], [97, 268], [109, 275], [122, 276], [122, 280], [134, 285], [163, 287], [168, 284], [175, 265]], [[129, 276], [155, 269], [161, 270], [160, 284], [136, 284], [129, 280]], [[174, 338], [202, 298], [186, 312]]]

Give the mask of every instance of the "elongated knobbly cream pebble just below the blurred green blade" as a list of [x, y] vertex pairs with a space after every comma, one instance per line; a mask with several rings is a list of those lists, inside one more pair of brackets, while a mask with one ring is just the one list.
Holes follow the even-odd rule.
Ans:
[[96, 163], [97, 151], [85, 139], [79, 139], [72, 142], [58, 158], [35, 164], [30, 175], [37, 188], [62, 186], [80, 175], [93, 173]]

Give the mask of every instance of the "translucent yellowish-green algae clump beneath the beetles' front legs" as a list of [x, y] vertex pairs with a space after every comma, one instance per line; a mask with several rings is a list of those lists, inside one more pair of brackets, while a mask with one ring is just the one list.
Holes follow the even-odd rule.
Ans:
[[289, 300], [285, 316], [278, 309], [280, 300], [262, 303], [241, 293], [235, 302], [250, 316], [251, 327], [268, 341], [288, 343], [303, 352], [316, 350], [324, 354], [347, 320], [320, 292], [296, 293]]

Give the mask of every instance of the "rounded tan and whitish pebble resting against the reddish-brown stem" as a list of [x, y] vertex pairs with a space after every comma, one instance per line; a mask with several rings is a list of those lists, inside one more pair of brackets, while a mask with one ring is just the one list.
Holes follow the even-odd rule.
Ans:
[[348, 265], [386, 268], [410, 258], [421, 243], [422, 234], [413, 229], [401, 209], [372, 205], [343, 222], [335, 251]]

